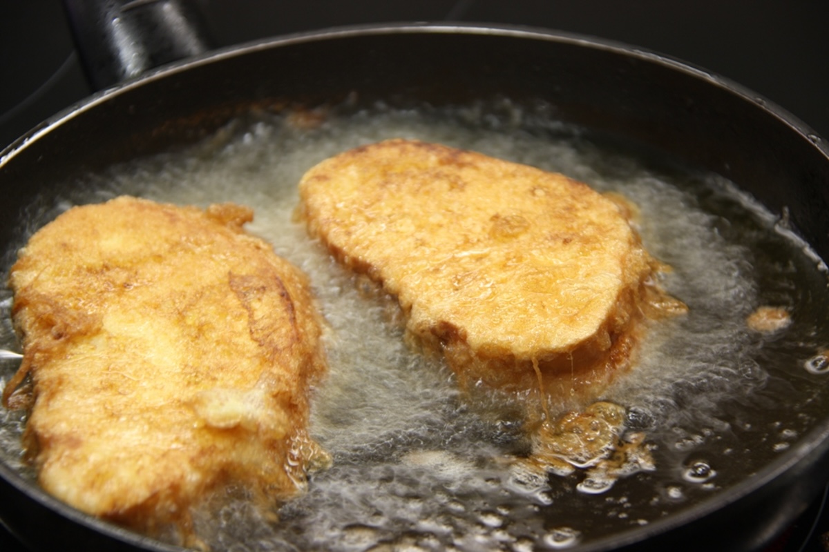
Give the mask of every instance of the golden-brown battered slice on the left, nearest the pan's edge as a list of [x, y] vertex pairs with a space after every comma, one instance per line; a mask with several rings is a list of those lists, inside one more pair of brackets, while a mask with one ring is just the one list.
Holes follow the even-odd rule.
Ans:
[[191, 506], [225, 482], [269, 505], [302, 490], [322, 454], [306, 433], [320, 321], [303, 274], [242, 230], [252, 218], [121, 197], [32, 236], [10, 277], [24, 358], [5, 396], [31, 375], [46, 491], [187, 540]]

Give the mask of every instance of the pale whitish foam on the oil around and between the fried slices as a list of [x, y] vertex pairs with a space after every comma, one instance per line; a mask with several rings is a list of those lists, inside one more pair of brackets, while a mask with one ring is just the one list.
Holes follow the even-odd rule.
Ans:
[[[279, 524], [244, 500], [197, 519], [214, 550], [524, 550], [532, 543], [567, 548], [593, 538], [589, 526], [566, 515], [574, 500], [568, 493], [589, 484], [571, 475], [555, 487], [511, 472], [509, 455], [525, 447], [517, 420], [502, 412], [482, 415], [486, 406], [464, 402], [440, 362], [406, 348], [388, 303], [361, 291], [294, 221], [296, 185], [305, 170], [353, 146], [405, 137], [466, 147], [558, 170], [637, 204], [643, 242], [673, 268], [664, 286], [690, 307], [687, 316], [655, 326], [638, 366], [606, 397], [648, 420], [653, 439], [686, 439], [693, 449], [700, 433], [686, 428], [729, 430], [720, 418], [722, 401], [764, 386], [768, 374], [754, 360], [759, 345], [744, 325], [757, 295], [750, 252], [723, 238], [720, 216], [695, 199], [701, 189], [727, 195], [727, 185], [667, 177], [629, 158], [605, 156], [578, 133], [562, 137], [558, 123], [528, 118], [510, 105], [498, 109], [498, 117], [481, 106], [430, 117], [378, 109], [304, 130], [262, 116], [235, 122], [187, 153], [90, 176], [83, 184], [92, 191], [72, 196], [75, 203], [127, 193], [176, 204], [250, 205], [250, 232], [311, 278], [328, 324], [331, 368], [315, 392], [311, 431], [334, 465], [313, 475], [306, 496], [282, 508]], [[533, 132], [539, 127], [545, 132]], [[40, 223], [68, 206], [40, 209]], [[13, 350], [7, 318], [0, 346]], [[2, 366], [7, 379], [12, 367]], [[5, 410], [2, 416], [2, 458], [22, 468], [22, 416]], [[599, 506], [588, 507], [600, 507], [601, 499], [587, 494], [581, 500], [595, 499]], [[647, 523], [671, 502], [677, 502], [672, 495], [656, 506], [631, 504], [629, 521], [620, 523]]]

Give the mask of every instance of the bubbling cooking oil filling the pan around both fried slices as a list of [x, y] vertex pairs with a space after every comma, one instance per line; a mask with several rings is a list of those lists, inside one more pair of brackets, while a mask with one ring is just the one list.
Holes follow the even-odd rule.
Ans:
[[[654, 168], [550, 120], [543, 108], [509, 102], [377, 106], [297, 120], [284, 113], [240, 118], [189, 151], [90, 175], [64, 198], [47, 199], [53, 209], [38, 220], [22, 221], [33, 232], [72, 204], [119, 194], [200, 206], [232, 201], [253, 207], [249, 231], [310, 276], [331, 367], [315, 390], [311, 433], [334, 465], [313, 474], [308, 493], [284, 505], [278, 523], [260, 515], [243, 491], [214, 497], [220, 506], [195, 519], [213, 550], [578, 548], [728, 488], [817, 419], [827, 362], [815, 359], [826, 358], [827, 329], [799, 326], [801, 291], [780, 283], [817, 273], [815, 259], [775, 233], [770, 215], [730, 183]], [[672, 267], [662, 286], [689, 306], [687, 315], [654, 324], [637, 365], [603, 397], [625, 407], [624, 425], [650, 444], [654, 472], [615, 486], [579, 470], [516, 478], [512, 458], [529, 448], [516, 415], [521, 396], [461, 396], [441, 362], [407, 348], [393, 303], [366, 293], [308, 238], [293, 216], [303, 173], [328, 156], [392, 137], [559, 171], [636, 204], [645, 247]], [[783, 244], [783, 259], [764, 260], [758, 249], [768, 243]], [[808, 277], [826, 292], [825, 276]], [[745, 324], [767, 303], [794, 318], [771, 337]], [[8, 295], [0, 306], [2, 346], [16, 349]], [[14, 361], [0, 361], [7, 381]], [[771, 391], [783, 388], [788, 398], [775, 398]], [[570, 406], [557, 405], [560, 412]], [[755, 410], [777, 409], [783, 419], [793, 406], [803, 414], [797, 420], [753, 426]], [[20, 449], [23, 416], [3, 410], [0, 422], [2, 460], [32, 478]], [[749, 454], [757, 443], [768, 449], [765, 459]], [[750, 467], [733, 473], [726, 464]]]

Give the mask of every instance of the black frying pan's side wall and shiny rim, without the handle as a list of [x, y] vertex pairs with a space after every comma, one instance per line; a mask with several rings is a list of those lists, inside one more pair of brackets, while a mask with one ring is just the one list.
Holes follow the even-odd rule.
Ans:
[[[105, 89], [0, 153], [0, 243], [60, 185], [124, 161], [173, 151], [231, 118], [274, 103], [308, 107], [543, 101], [555, 118], [648, 159], [734, 181], [783, 228], [829, 258], [829, 147], [783, 109], [727, 79], [610, 41], [519, 27], [387, 25], [334, 29], [195, 55]], [[39, 199], [40, 198], [40, 199]], [[6, 260], [8, 266], [9, 259]], [[826, 299], [811, 298], [815, 324]], [[820, 387], [818, 380], [814, 384]], [[792, 446], [755, 451], [752, 472], [645, 526], [570, 550], [759, 550], [827, 481], [829, 400]], [[778, 415], [776, 412], [775, 415]], [[776, 418], [762, 418], [757, 426]], [[770, 431], [770, 430], [769, 430]], [[762, 437], [759, 438], [762, 440]], [[91, 519], [0, 462], [0, 518], [33, 550], [177, 550]]]

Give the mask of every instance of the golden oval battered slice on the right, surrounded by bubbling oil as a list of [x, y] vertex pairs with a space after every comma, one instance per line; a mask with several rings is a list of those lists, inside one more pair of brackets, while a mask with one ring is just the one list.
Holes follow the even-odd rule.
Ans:
[[594, 395], [646, 311], [685, 309], [655, 286], [631, 206], [564, 175], [398, 139], [322, 161], [299, 191], [309, 233], [466, 385]]

